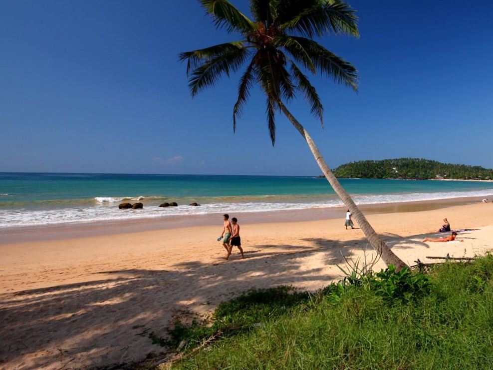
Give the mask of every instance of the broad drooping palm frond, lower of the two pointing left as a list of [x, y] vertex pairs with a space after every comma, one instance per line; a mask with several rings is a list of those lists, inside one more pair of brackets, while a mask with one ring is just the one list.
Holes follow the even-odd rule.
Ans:
[[248, 57], [248, 49], [239, 47], [224, 54], [207, 59], [194, 69], [189, 79], [192, 96], [197, 95], [204, 88], [212, 86], [223, 74], [238, 70]]

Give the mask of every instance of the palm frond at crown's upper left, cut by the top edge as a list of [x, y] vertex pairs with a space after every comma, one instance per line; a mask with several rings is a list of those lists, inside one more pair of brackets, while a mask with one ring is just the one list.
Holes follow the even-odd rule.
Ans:
[[214, 18], [216, 27], [225, 27], [228, 32], [250, 33], [255, 31], [256, 24], [228, 0], [200, 0], [200, 2], [207, 13]]

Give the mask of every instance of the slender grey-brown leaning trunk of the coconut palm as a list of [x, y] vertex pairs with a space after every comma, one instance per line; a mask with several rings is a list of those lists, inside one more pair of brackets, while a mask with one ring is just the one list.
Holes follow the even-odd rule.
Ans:
[[341, 186], [337, 178], [330, 170], [329, 166], [327, 166], [327, 163], [325, 163], [325, 159], [323, 159], [322, 154], [320, 154], [317, 145], [308, 134], [308, 131], [306, 131], [301, 123], [299, 123], [298, 120], [294, 118], [294, 116], [289, 112], [289, 110], [287, 110], [287, 108], [284, 106], [284, 104], [282, 104], [281, 101], [279, 101], [278, 103], [282, 112], [291, 121], [296, 130], [299, 131], [301, 136], [303, 136], [303, 138], [306, 140], [306, 143], [308, 144], [308, 147], [315, 157], [318, 166], [325, 175], [325, 178], [332, 186], [336, 194], [339, 196], [339, 198], [342, 200], [342, 202], [346, 205], [347, 208], [349, 208], [349, 211], [353, 214], [354, 218], [358, 222], [358, 225], [361, 227], [361, 230], [363, 230], [363, 233], [365, 234], [372, 247], [377, 251], [377, 253], [382, 257], [383, 261], [387, 265], [393, 264], [397, 268], [397, 271], [400, 271], [401, 269], [406, 267], [407, 265], [399, 257], [397, 257], [394, 252], [391, 251], [391, 249], [385, 244], [382, 238], [380, 238], [375, 230], [373, 230], [365, 215], [363, 215], [356, 203], [354, 203], [354, 201], [352, 200], [351, 196]]

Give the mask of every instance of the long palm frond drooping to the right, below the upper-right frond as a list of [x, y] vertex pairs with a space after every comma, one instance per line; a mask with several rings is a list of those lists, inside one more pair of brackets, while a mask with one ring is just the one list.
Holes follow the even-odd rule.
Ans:
[[318, 42], [305, 37], [291, 36], [306, 50], [315, 67], [334, 82], [358, 91], [358, 71], [348, 61], [327, 50]]

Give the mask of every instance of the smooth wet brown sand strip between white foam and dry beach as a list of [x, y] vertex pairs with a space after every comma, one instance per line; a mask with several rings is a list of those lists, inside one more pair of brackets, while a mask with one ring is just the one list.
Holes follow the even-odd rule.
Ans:
[[[427, 211], [481, 202], [483, 197], [458, 197], [434, 200], [405, 201], [393, 203], [362, 204], [358, 207], [365, 214], [399, 213]], [[315, 220], [331, 220], [345, 216], [345, 206], [317, 207], [298, 210], [278, 210], [263, 212], [238, 212], [235, 216], [242, 224], [286, 223]], [[228, 212], [225, 210], [225, 212]], [[53, 225], [14, 226], [0, 228], [0, 245], [10, 243], [83, 238], [88, 235], [103, 236], [180, 229], [193, 226], [213, 226], [221, 224], [222, 213], [205, 215], [163, 216], [155, 218], [108, 220], [80, 223], [60, 223]], [[230, 215], [233, 217], [233, 215]], [[219, 220], [219, 221], [218, 221]]]

